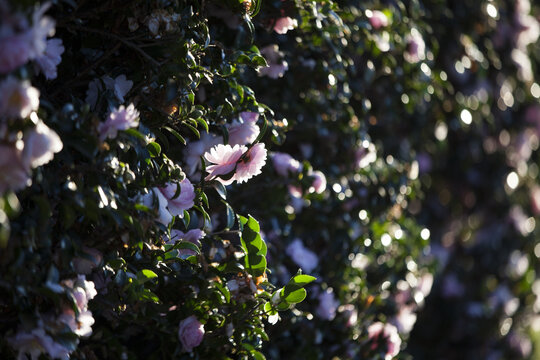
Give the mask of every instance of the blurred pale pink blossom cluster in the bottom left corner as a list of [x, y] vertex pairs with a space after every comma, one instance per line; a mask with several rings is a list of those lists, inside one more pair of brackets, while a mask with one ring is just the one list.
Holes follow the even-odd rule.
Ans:
[[11, 346], [18, 352], [18, 359], [26, 359], [26, 355], [30, 355], [32, 360], [37, 360], [41, 354], [46, 354], [52, 359], [69, 359], [73, 349], [56, 342], [51, 334], [62, 332], [66, 326], [79, 337], [92, 334], [94, 318], [92, 312], [88, 310], [88, 302], [97, 295], [94, 283], [87, 281], [84, 275], [79, 275], [75, 280], [48, 285], [53, 291], [69, 293], [75, 300], [76, 310], [72, 305], [66, 304], [59, 316], [52, 314], [43, 316], [37, 328], [19, 329], [9, 339]]

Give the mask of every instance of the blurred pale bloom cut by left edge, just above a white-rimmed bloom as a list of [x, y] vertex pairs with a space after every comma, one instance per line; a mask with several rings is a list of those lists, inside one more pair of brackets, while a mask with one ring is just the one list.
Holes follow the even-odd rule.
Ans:
[[39, 90], [13, 76], [0, 83], [0, 119], [26, 118], [39, 107]]

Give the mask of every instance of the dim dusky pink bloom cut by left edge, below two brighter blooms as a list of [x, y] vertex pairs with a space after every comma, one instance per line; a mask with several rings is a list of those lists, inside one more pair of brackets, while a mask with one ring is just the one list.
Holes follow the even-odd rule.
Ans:
[[0, 144], [0, 194], [29, 185], [29, 174], [30, 169], [24, 166], [22, 152], [15, 146]]

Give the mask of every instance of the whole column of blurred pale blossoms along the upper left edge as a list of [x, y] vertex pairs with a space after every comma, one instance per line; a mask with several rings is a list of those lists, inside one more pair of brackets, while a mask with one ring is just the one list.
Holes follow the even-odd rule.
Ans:
[[[34, 61], [36, 70], [47, 79], [56, 77], [56, 67], [64, 51], [54, 35], [54, 21], [45, 16], [48, 5], [32, 14], [29, 22], [24, 14], [11, 13], [7, 3], [0, 4], [0, 194], [20, 190], [31, 183], [31, 171], [48, 163], [63, 144], [58, 135], [38, 118], [39, 90], [30, 81], [10, 74]], [[30, 119], [33, 126], [22, 136], [11, 133], [9, 125]]]

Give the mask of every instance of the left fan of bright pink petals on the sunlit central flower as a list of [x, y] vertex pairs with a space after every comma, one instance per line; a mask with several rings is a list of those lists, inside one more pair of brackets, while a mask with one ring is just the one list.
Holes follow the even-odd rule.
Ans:
[[[246, 150], [247, 147], [244, 145], [231, 146], [218, 144], [211, 148], [210, 151], [204, 154], [206, 161], [213, 164], [206, 167], [206, 171], [209, 173], [206, 180], [234, 171], [237, 167], [238, 160], [240, 160], [240, 157], [242, 157]], [[234, 176], [229, 180], [219, 179], [224, 185], [232, 184], [234, 180]]]

